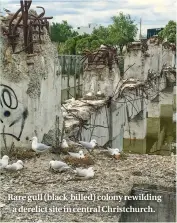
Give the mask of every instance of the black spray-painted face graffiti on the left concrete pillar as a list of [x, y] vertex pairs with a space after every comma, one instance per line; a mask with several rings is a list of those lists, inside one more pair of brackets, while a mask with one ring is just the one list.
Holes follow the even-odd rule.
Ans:
[[[0, 84], [0, 122], [2, 124], [1, 135], [9, 135], [15, 138], [17, 141], [20, 141], [26, 119], [28, 117], [28, 109], [24, 108], [22, 105], [19, 105], [18, 98], [14, 90], [4, 84]], [[10, 128], [16, 126], [17, 123], [20, 123], [20, 128], [17, 129], [16, 134], [14, 134]], [[6, 129], [8, 131], [6, 132]]]

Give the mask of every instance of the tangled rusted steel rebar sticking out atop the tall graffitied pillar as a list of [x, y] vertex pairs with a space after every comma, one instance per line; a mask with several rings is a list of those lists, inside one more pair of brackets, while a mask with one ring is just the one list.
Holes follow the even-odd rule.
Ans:
[[[32, 0], [20, 0], [21, 8], [18, 9], [9, 21], [9, 27], [8, 31], [6, 30], [6, 35], [14, 53], [18, 37], [20, 36], [18, 28], [23, 28], [24, 48], [16, 53], [25, 51], [28, 54], [33, 54], [33, 44], [36, 42], [42, 43], [41, 35], [44, 34], [42, 31], [43, 28], [45, 27], [49, 32], [49, 22], [47, 20], [52, 19], [53, 17], [44, 17], [45, 9], [41, 6], [37, 6], [36, 8], [41, 8], [43, 10], [42, 13], [37, 16], [33, 15], [29, 11], [31, 4]], [[38, 39], [33, 40], [34, 34], [38, 34]]]

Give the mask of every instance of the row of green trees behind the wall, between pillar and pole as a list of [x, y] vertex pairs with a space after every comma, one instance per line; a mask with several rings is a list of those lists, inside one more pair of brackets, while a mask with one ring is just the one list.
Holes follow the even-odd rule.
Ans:
[[112, 22], [108, 27], [99, 26], [90, 35], [79, 35], [67, 21], [53, 23], [51, 40], [59, 43], [59, 53], [62, 54], [82, 54], [84, 50], [93, 51], [101, 44], [118, 46], [122, 53], [123, 47], [134, 40], [138, 29], [130, 15], [122, 12], [113, 16]]

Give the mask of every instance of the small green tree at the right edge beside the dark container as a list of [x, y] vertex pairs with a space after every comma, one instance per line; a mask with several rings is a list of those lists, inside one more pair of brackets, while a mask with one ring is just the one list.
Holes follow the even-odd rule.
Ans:
[[176, 43], [176, 22], [170, 20], [165, 28], [158, 34], [163, 39], [167, 38], [167, 41]]

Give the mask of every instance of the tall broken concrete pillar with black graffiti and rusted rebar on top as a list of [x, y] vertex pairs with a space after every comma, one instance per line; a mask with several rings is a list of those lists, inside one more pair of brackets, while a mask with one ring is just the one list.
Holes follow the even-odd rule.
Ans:
[[47, 19], [52, 17], [44, 16], [43, 7], [39, 15], [31, 10], [31, 2], [20, 1], [16, 13], [0, 18], [0, 137], [6, 148], [29, 148], [31, 137], [42, 141], [45, 133], [50, 144], [58, 146], [60, 141], [61, 75], [48, 33]]

